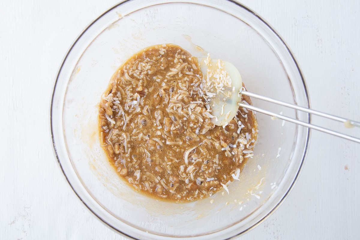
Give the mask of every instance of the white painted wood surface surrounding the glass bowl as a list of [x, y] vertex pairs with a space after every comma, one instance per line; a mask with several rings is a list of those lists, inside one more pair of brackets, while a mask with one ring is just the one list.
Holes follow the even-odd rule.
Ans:
[[[0, 1], [0, 239], [121, 239], [55, 160], [49, 105], [68, 47], [116, 0]], [[360, 120], [360, 2], [243, 0], [293, 50], [312, 108]], [[341, 124], [314, 119], [342, 129]], [[360, 137], [359, 130], [350, 130]], [[360, 144], [312, 131], [291, 194], [239, 239], [359, 239]]]

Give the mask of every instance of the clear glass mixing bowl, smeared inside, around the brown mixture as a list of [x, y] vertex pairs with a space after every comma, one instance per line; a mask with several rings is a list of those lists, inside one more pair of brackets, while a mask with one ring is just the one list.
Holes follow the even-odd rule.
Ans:
[[[98, 108], [113, 73], [139, 50], [173, 43], [193, 56], [231, 62], [247, 89], [309, 107], [300, 67], [261, 17], [235, 1], [123, 1], [95, 19], [66, 54], [51, 104], [55, 155], [84, 204], [134, 239], [229, 239], [252, 229], [285, 199], [301, 171], [310, 131], [257, 114], [259, 137], [240, 181], [193, 202], [172, 203], [135, 192], [100, 147]], [[252, 99], [279, 113], [280, 107]], [[284, 114], [310, 122], [293, 109]], [[213, 201], [210, 201], [212, 200]], [[212, 203], [211, 203], [212, 202]]]

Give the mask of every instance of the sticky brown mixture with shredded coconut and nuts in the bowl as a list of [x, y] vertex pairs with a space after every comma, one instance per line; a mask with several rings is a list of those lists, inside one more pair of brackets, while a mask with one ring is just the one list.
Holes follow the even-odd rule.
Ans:
[[239, 109], [227, 126], [215, 126], [203, 85], [197, 58], [173, 44], [144, 49], [111, 78], [99, 103], [100, 138], [136, 191], [174, 201], [205, 198], [227, 190], [253, 155], [253, 112]]

